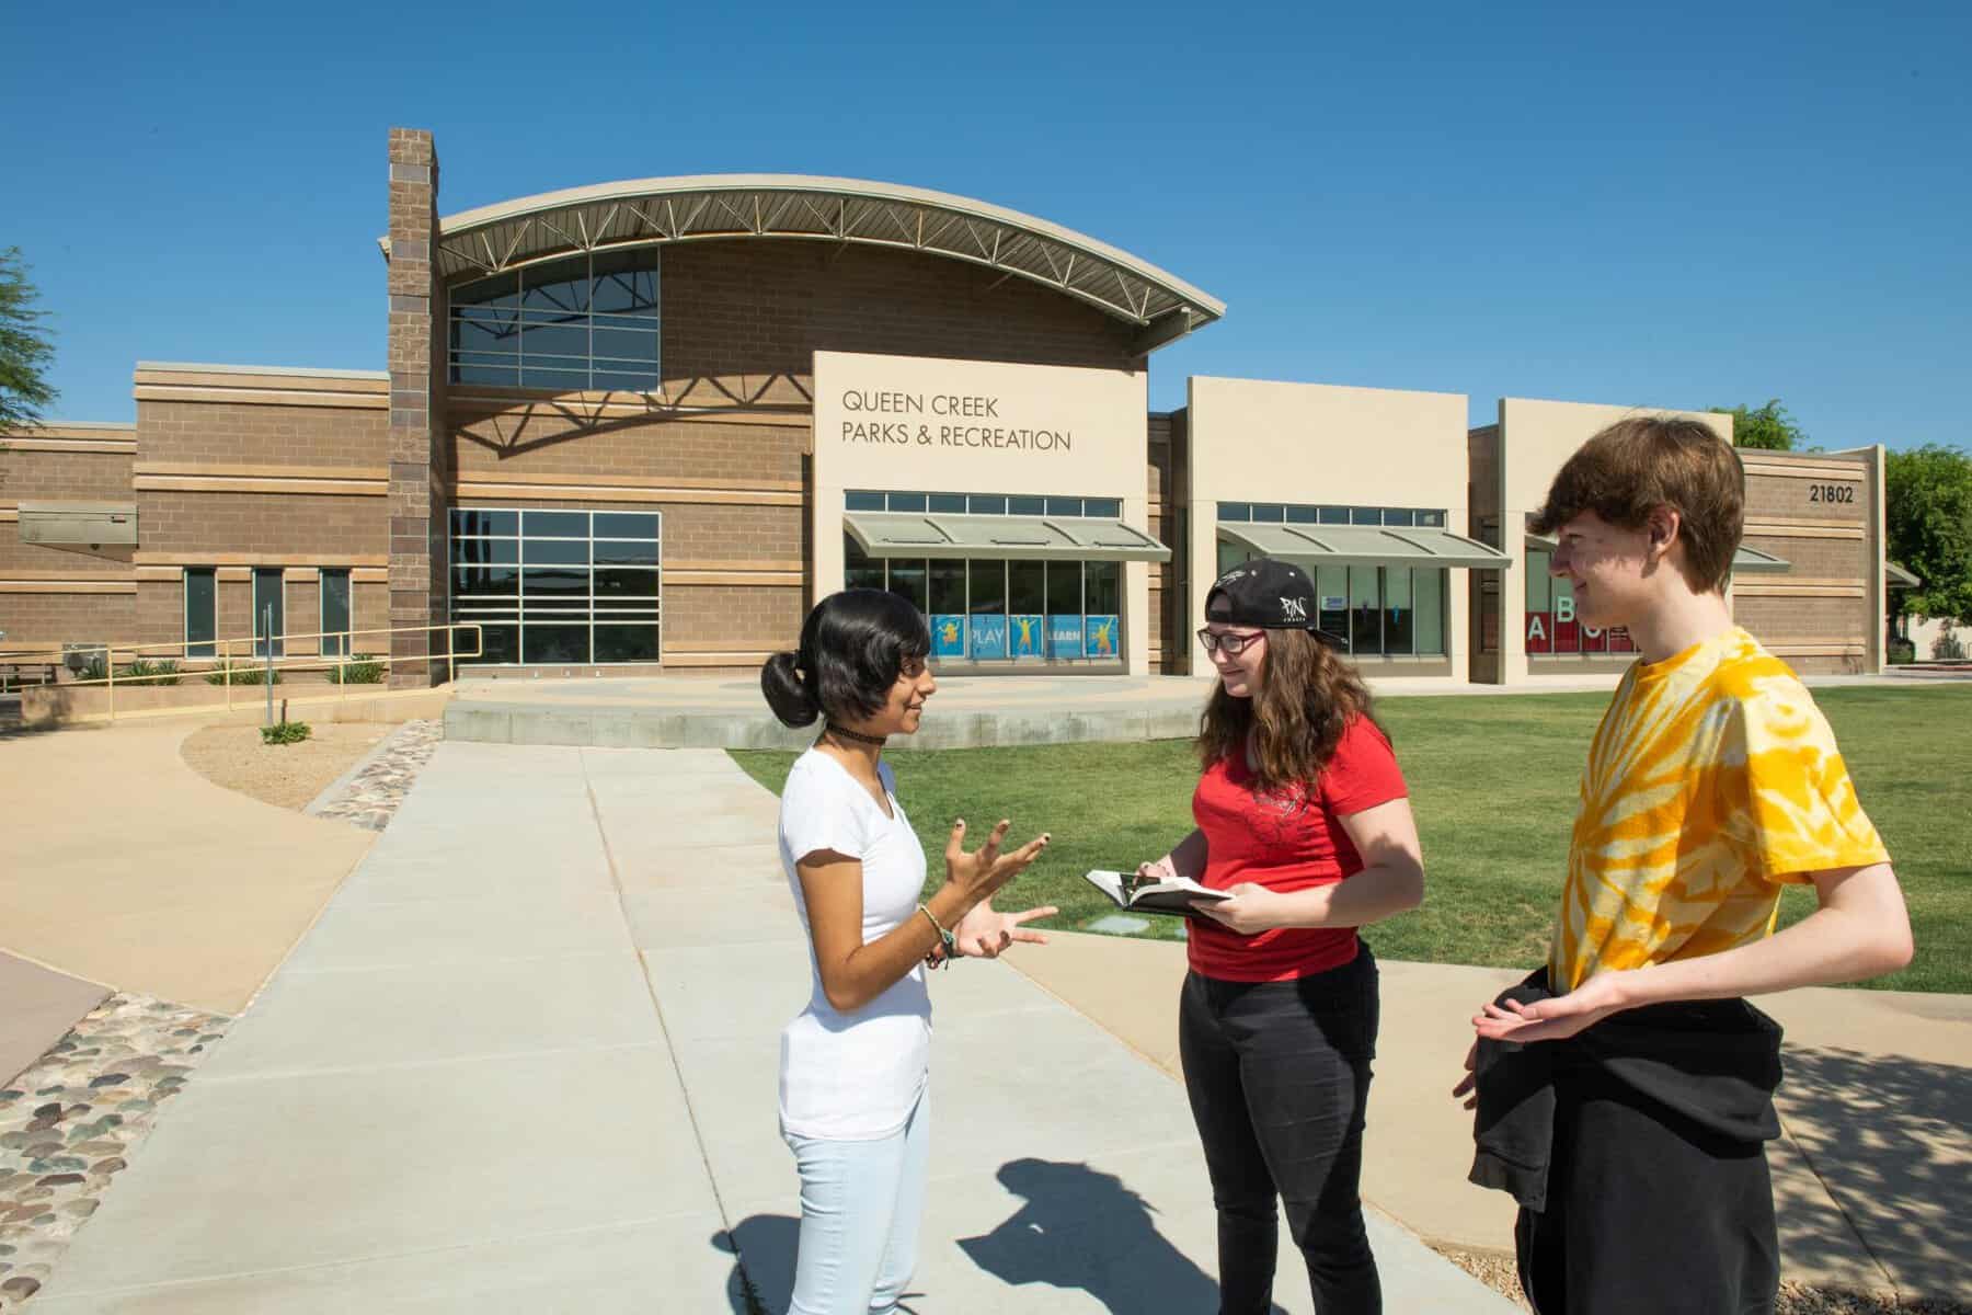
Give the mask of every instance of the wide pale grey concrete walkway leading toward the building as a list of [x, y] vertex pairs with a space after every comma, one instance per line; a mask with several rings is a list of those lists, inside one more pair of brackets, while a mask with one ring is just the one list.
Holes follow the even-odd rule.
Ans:
[[[785, 1309], [775, 808], [724, 753], [446, 743], [37, 1309]], [[1211, 1309], [1181, 1088], [1006, 964], [935, 996], [913, 1309]], [[1511, 1309], [1373, 1242], [1394, 1311]], [[1278, 1287], [1309, 1309], [1298, 1260]]]

